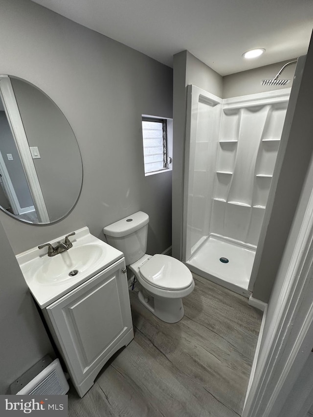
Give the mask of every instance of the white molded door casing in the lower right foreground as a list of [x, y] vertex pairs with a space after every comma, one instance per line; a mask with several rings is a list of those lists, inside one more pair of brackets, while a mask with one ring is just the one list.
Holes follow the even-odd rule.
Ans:
[[[277, 416], [313, 346], [313, 189], [297, 234], [243, 417]], [[301, 204], [301, 200], [300, 200]], [[279, 272], [278, 272], [279, 273]], [[287, 416], [286, 416], [287, 417]]]

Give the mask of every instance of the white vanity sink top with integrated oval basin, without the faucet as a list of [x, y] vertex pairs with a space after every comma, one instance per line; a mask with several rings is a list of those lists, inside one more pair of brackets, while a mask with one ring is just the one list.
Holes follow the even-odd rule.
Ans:
[[[58, 241], [64, 241], [64, 236], [50, 242], [56, 246]], [[36, 246], [16, 257], [25, 281], [41, 308], [124, 256], [92, 236], [88, 227], [77, 230], [70, 241], [73, 246], [55, 256], [47, 255], [47, 247], [38, 249]]]

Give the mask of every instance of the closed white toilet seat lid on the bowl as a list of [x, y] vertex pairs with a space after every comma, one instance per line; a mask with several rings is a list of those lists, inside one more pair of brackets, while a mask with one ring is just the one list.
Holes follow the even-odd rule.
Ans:
[[156, 288], [179, 291], [193, 283], [192, 274], [182, 262], [167, 255], [154, 255], [139, 267], [140, 277]]

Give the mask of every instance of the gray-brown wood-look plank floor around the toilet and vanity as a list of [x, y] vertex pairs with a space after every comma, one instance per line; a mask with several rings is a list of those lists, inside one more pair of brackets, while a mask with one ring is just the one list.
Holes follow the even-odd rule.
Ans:
[[238, 417], [261, 324], [247, 299], [197, 275], [179, 323], [157, 319], [130, 293], [134, 340], [89, 392], [68, 393], [69, 417]]

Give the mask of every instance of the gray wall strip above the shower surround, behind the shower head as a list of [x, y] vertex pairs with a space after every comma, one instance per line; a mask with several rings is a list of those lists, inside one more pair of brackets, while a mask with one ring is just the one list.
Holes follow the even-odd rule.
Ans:
[[237, 97], [247, 94], [262, 93], [265, 91], [279, 90], [292, 86], [295, 64], [289, 65], [284, 69], [279, 79], [291, 80], [286, 86], [262, 86], [262, 80], [272, 80], [278, 71], [288, 62], [278, 62], [276, 64], [261, 66], [260, 68], [249, 69], [248, 71], [237, 72], [236, 74], [226, 75], [223, 78], [223, 98]]

